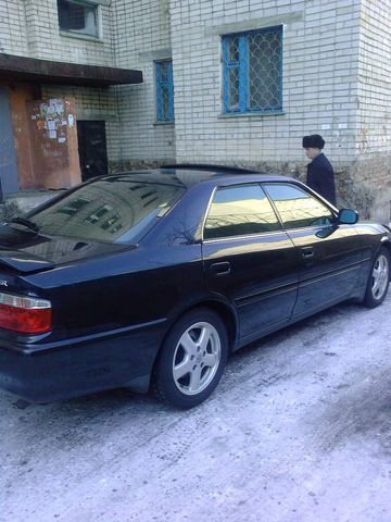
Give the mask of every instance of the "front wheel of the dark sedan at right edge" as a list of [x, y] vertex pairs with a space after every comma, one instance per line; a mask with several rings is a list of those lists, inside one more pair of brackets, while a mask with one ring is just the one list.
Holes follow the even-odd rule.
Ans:
[[390, 252], [386, 248], [381, 248], [370, 266], [363, 300], [366, 308], [376, 308], [386, 299], [390, 285]]

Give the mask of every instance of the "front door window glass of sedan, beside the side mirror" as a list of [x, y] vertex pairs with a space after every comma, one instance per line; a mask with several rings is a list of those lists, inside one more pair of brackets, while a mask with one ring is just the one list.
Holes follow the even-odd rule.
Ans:
[[286, 228], [329, 225], [335, 219], [326, 204], [295, 185], [270, 183], [263, 186]]

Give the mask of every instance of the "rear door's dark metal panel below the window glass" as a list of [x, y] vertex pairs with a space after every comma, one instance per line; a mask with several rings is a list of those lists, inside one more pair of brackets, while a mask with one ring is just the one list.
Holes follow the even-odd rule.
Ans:
[[[203, 243], [206, 286], [237, 310], [240, 337], [287, 321], [298, 294], [298, 258], [285, 232]], [[229, 265], [220, 274], [219, 266]]]

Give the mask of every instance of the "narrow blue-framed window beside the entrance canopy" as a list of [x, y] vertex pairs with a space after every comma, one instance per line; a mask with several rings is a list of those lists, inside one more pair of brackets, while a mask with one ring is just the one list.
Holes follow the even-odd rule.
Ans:
[[156, 120], [157, 122], [174, 122], [173, 61], [162, 60], [154, 63], [156, 76]]

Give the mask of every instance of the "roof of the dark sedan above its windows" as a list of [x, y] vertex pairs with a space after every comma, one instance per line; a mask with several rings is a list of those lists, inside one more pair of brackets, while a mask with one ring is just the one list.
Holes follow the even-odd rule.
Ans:
[[234, 185], [238, 183], [250, 182], [297, 182], [297, 179], [278, 174], [262, 174], [260, 172], [251, 172], [247, 170], [230, 170], [229, 167], [213, 169], [205, 167], [161, 167], [144, 171], [122, 172], [103, 176], [100, 179], [110, 182], [114, 181], [137, 181], [144, 183], [156, 183], [164, 185], [175, 185], [182, 188], [190, 188], [200, 183], [213, 182], [218, 185]]

